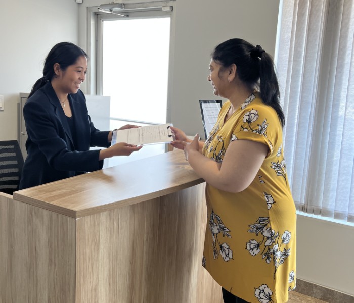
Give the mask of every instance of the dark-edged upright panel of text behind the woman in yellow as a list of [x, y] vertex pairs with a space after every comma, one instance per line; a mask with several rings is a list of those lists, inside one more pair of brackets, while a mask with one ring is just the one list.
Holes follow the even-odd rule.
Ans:
[[207, 139], [217, 121], [223, 103], [222, 100], [199, 100], [199, 105], [202, 114], [205, 139]]

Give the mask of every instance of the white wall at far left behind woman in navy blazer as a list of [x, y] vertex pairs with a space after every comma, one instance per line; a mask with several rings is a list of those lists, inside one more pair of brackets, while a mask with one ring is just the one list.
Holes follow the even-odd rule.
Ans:
[[57, 42], [77, 43], [75, 0], [0, 0], [0, 140], [17, 140], [17, 103], [42, 76], [43, 62]]

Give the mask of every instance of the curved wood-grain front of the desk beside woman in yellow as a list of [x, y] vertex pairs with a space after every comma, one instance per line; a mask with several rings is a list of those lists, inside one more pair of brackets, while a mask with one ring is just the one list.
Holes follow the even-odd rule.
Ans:
[[201, 266], [203, 195], [204, 184], [77, 219], [76, 302], [221, 302]]

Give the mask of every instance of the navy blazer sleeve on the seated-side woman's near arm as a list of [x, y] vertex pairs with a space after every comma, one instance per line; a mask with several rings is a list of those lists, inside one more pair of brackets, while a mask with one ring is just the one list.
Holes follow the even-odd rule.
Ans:
[[[56, 170], [91, 172], [102, 168], [100, 150], [72, 151], [68, 148], [65, 130], [55, 110], [46, 102], [26, 102], [23, 116], [30, 140]], [[97, 130], [92, 129], [95, 133]], [[105, 134], [98, 137], [102, 138]], [[97, 135], [94, 135], [97, 137]], [[107, 142], [107, 135], [106, 135]]]

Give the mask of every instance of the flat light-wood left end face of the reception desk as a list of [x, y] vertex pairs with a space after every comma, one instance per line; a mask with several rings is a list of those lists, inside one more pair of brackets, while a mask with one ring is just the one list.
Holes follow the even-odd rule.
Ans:
[[0, 218], [0, 302], [74, 302], [76, 220], [11, 196]]

